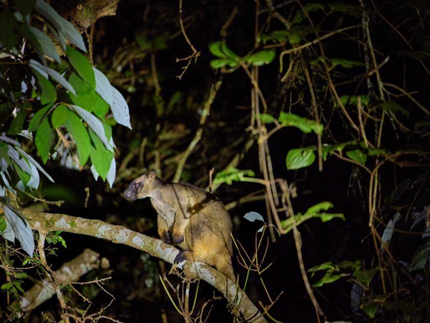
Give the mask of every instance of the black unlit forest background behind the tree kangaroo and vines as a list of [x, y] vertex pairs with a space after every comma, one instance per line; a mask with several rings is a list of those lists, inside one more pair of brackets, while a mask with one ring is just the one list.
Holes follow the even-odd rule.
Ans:
[[[291, 19], [299, 10], [297, 2], [274, 1], [275, 5], [281, 4], [279, 13], [287, 19]], [[279, 3], [278, 3], [279, 2]], [[342, 1], [345, 3], [344, 1]], [[348, 1], [353, 5], [358, 2]], [[381, 12], [393, 25], [404, 22], [400, 28], [414, 48], [424, 51], [429, 48], [428, 33], [428, 9], [424, 10], [425, 1], [375, 1]], [[134, 203], [127, 202], [121, 195], [128, 183], [140, 173], [153, 168], [153, 156], [151, 150], [156, 147], [159, 130], [157, 124], [174, 132], [189, 130], [182, 140], [174, 143], [171, 152], [165, 152], [164, 156], [174, 157], [183, 151], [192, 136], [198, 129], [200, 115], [198, 110], [202, 108], [205, 96], [210, 85], [215, 80], [215, 72], [210, 67], [210, 61], [214, 56], [208, 50], [208, 44], [220, 40], [219, 30], [235, 6], [238, 13], [227, 29], [226, 42], [238, 55], [245, 55], [254, 46], [254, 1], [184, 1], [183, 18], [186, 32], [192, 44], [201, 55], [197, 63], [192, 62], [185, 72], [182, 80], [176, 76], [181, 73], [181, 67], [185, 62], [176, 62], [176, 58], [187, 57], [191, 50], [180, 33], [178, 1], [121, 1], [116, 15], [99, 19], [94, 28], [93, 59], [94, 64], [105, 71], [113, 85], [120, 89], [126, 97], [131, 116], [133, 130], [117, 126], [113, 129], [113, 137], [118, 148], [117, 167], [124, 158], [136, 150], [144, 137], [147, 138], [144, 163], [139, 164], [137, 155], [131, 158], [126, 169], [129, 171], [118, 172], [117, 181], [113, 187], [108, 188], [102, 181], [95, 182], [88, 171], [72, 171], [60, 168], [58, 164], [50, 162], [50, 174], [56, 179], [55, 185], [46, 183], [43, 187], [47, 199], [65, 199], [66, 203], [61, 208], [51, 206], [49, 212], [65, 213], [91, 219], [101, 219], [112, 224], [142, 232], [150, 236], [156, 236], [156, 213], [151, 208], [149, 199], [139, 200]], [[303, 5], [306, 4], [304, 1]], [[381, 68], [381, 74], [388, 83], [405, 87], [407, 91], [419, 91], [414, 97], [424, 106], [428, 106], [429, 75], [422, 68], [420, 62], [406, 55], [410, 48], [376, 13], [372, 2], [365, 1], [370, 17], [370, 30], [373, 45], [377, 50], [377, 59], [381, 62], [386, 56], [390, 56], [389, 63]], [[265, 2], [261, 3], [262, 9], [267, 9]], [[423, 9], [421, 19], [414, 14], [416, 8]], [[260, 26], [268, 17], [268, 13], [261, 14]], [[331, 13], [318, 11], [311, 15], [315, 24], [319, 24], [320, 30], [331, 31], [347, 25], [359, 24], [360, 17], [344, 13]], [[304, 22], [307, 24], [307, 22]], [[263, 31], [269, 33], [272, 30], [283, 29], [284, 26], [275, 18], [264, 27]], [[335, 37], [323, 41], [325, 55], [327, 57], [342, 57], [350, 60], [363, 61], [362, 47], [357, 42], [361, 31], [353, 29]], [[136, 42], [136, 37], [145, 36], [148, 39], [163, 37], [166, 42], [165, 49], [142, 49]], [[315, 38], [314, 34], [307, 35], [303, 42]], [[427, 46], [427, 47], [426, 47]], [[285, 48], [290, 48], [289, 44]], [[318, 46], [312, 50], [304, 51], [303, 58], [310, 60], [318, 54]], [[283, 48], [281, 48], [283, 49]], [[289, 111], [304, 117], [309, 117], [311, 99], [305, 80], [298, 80], [294, 84], [283, 84], [279, 73], [279, 53], [277, 49], [275, 60], [259, 69], [259, 86], [269, 105], [268, 113], [277, 116], [280, 111]], [[139, 58], [130, 59], [130, 67], [127, 57], [132, 52], [141, 54]], [[161, 96], [165, 102], [177, 92], [183, 94], [180, 104], [174, 109], [165, 111], [161, 116], [157, 115], [153, 95], [154, 86], [151, 74], [150, 55], [155, 53], [157, 74], [161, 86]], [[115, 67], [115, 60], [124, 55], [124, 66], [121, 69]], [[425, 57], [426, 58], [426, 57]], [[119, 59], [121, 62], [121, 59]], [[428, 60], [425, 61], [428, 64]], [[288, 60], [284, 60], [284, 71]], [[341, 94], [367, 94], [366, 79], [362, 76], [363, 68], [345, 69], [339, 68], [334, 81], [351, 81], [345, 85], [336, 87]], [[326, 118], [322, 122], [329, 128], [329, 133], [324, 132], [323, 143], [339, 143], [353, 140], [353, 134], [347, 122], [340, 113], [333, 108], [329, 98], [323, 94], [324, 79], [321, 73], [313, 71], [316, 86], [321, 90], [318, 94], [319, 107]], [[132, 76], [134, 75], [134, 83]], [[361, 75], [361, 77], [360, 77]], [[371, 78], [377, 88], [376, 81]], [[211, 115], [204, 128], [203, 138], [190, 156], [184, 175], [184, 182], [189, 182], [200, 187], [208, 183], [209, 169], [215, 167], [215, 173], [225, 167], [235, 154], [238, 154], [244, 146], [244, 142], [251, 136], [245, 131], [250, 122], [250, 93], [251, 83], [243, 70], [226, 74], [223, 84], [215, 98], [211, 108]], [[127, 91], [128, 90], [128, 91]], [[301, 104], [290, 107], [288, 100], [290, 95], [294, 98], [302, 97]], [[187, 101], [188, 100], [188, 101]], [[417, 121], [429, 121], [422, 112], [405, 98], [399, 98], [399, 102], [410, 111], [409, 118], [402, 121], [412, 130], [403, 133], [392, 127], [390, 122], [384, 127], [382, 147], [397, 151], [408, 147], [420, 147], [427, 149], [428, 137], [421, 137], [414, 133], [414, 124]], [[191, 102], [191, 103], [190, 103]], [[310, 117], [312, 119], [312, 117]], [[356, 114], [353, 114], [354, 120]], [[329, 123], [327, 123], [327, 120]], [[267, 128], [270, 130], [271, 126]], [[398, 137], [398, 138], [397, 138]], [[368, 138], [373, 141], [373, 128], [370, 125]], [[236, 146], [221, 150], [238, 140]], [[374, 258], [374, 245], [368, 228], [367, 194], [369, 176], [355, 165], [328, 157], [323, 164], [323, 171], [318, 171], [318, 163], [296, 171], [287, 170], [285, 164], [286, 154], [290, 149], [316, 145], [315, 135], [304, 135], [296, 128], [285, 128], [271, 137], [269, 147], [275, 177], [286, 178], [288, 182], [297, 185], [298, 197], [293, 200], [295, 212], [304, 212], [306, 209], [321, 201], [331, 201], [334, 208], [331, 212], [343, 213], [346, 221], [334, 219], [322, 223], [319, 219], [313, 219], [300, 226], [302, 238], [302, 252], [306, 268], [311, 268], [326, 261], [334, 263], [342, 260], [361, 260], [364, 268], [376, 266]], [[373, 167], [374, 159], [368, 160], [368, 166]], [[384, 199], [392, 193], [395, 187], [407, 178], [419, 178], [424, 176], [422, 167], [399, 167], [393, 163], [387, 163], [381, 167], [379, 181], [381, 183], [381, 205], [379, 216], [385, 218], [385, 222], [394, 214], [395, 210], [407, 209], [416, 191], [406, 192], [396, 203], [384, 203]], [[261, 177], [258, 171], [258, 150], [256, 145], [249, 150], [240, 162], [239, 169], [253, 169], [256, 177]], [[166, 180], [173, 176], [172, 169], [175, 163], [163, 163], [163, 177]], [[358, 176], [353, 177], [356, 171]], [[362, 187], [360, 193], [359, 185]], [[90, 189], [88, 206], [85, 208], [85, 187]], [[415, 201], [414, 209], [421, 210], [428, 203], [427, 185]], [[225, 204], [240, 197], [261, 189], [258, 184], [246, 182], [234, 182], [232, 185], [221, 185], [215, 195]], [[427, 192], [427, 193], [426, 193]], [[266, 216], [264, 201], [246, 203], [229, 211], [234, 224], [233, 235], [242, 245], [253, 253], [255, 232], [260, 228], [260, 223], [250, 223], [243, 219], [243, 215], [250, 211], [257, 211]], [[406, 210], [404, 211], [406, 212]], [[401, 221], [399, 226], [409, 229], [410, 223]], [[384, 226], [378, 226], [378, 232], [382, 234]], [[419, 228], [421, 230], [423, 228]], [[104, 286], [112, 294], [116, 301], [106, 310], [105, 314], [122, 322], [163, 322], [163, 313], [167, 314], [168, 322], [183, 322], [176, 313], [165, 291], [160, 285], [158, 273], [160, 264], [157, 259], [133, 250], [129, 247], [111, 244], [108, 241], [73, 234], [63, 233], [67, 241], [67, 250], [58, 252], [58, 256], [50, 256], [48, 261], [53, 268], [58, 268], [64, 261], [68, 261], [78, 255], [83, 248], [91, 247], [99, 252], [102, 257], [108, 258], [110, 269], [91, 272], [86, 280], [110, 275], [112, 278]], [[396, 259], [411, 261], [411, 258], [421, 242], [419, 235], [395, 234], [392, 243], [392, 252]], [[60, 247], [61, 249], [61, 247]], [[237, 254], [237, 253], [236, 253]], [[267, 289], [272, 297], [276, 298], [283, 293], [275, 305], [270, 309], [270, 314], [281, 322], [316, 322], [315, 311], [305, 290], [302, 276], [299, 270], [297, 253], [292, 233], [277, 238], [275, 243], [269, 242], [266, 263], [273, 262], [271, 267], [262, 275]], [[167, 264], [167, 269], [170, 265]], [[236, 275], [243, 284], [246, 271], [237, 261], [233, 260]], [[148, 287], [145, 283], [152, 282]], [[169, 276], [174, 286], [179, 284], [175, 276]], [[378, 278], [376, 278], [372, 293], [378, 293]], [[316, 278], [311, 278], [311, 283]], [[341, 279], [333, 284], [318, 288], [316, 297], [326, 314], [327, 321], [345, 320], [361, 322], [363, 316], [352, 316], [350, 306], [351, 282]], [[193, 291], [194, 291], [193, 286]], [[268, 304], [264, 289], [259, 278], [252, 273], [246, 289], [247, 295], [258, 304]], [[380, 290], [379, 290], [380, 292]], [[107, 306], [110, 296], [100, 291], [97, 287], [85, 287], [83, 293], [92, 299], [93, 311]], [[216, 293], [215, 293], [216, 294]], [[193, 294], [194, 295], [194, 294]], [[79, 305], [82, 301], [67, 294], [72, 301]], [[213, 290], [205, 283], [200, 285], [198, 303], [199, 309], [206, 300], [212, 298]], [[82, 304], [81, 304], [82, 305]], [[37, 322], [41, 313], [55, 313], [58, 310], [56, 299], [52, 299], [33, 312], [32, 321]], [[391, 314], [379, 322], [392, 322]], [[403, 316], [400, 316], [399, 318]], [[36, 320], [36, 321], [34, 321]], [[225, 301], [214, 302], [214, 308], [207, 322], [229, 322], [231, 316], [226, 308]], [[406, 321], [405, 321], [406, 322]]]

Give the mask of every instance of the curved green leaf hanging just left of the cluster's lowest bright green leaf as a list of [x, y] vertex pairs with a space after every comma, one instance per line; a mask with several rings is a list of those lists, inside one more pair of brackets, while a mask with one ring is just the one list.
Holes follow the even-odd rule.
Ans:
[[72, 135], [76, 142], [76, 150], [78, 152], [79, 164], [85, 165], [90, 157], [90, 136], [87, 128], [81, 122], [81, 119], [73, 111], [69, 111], [69, 116], [64, 123], [67, 131]]

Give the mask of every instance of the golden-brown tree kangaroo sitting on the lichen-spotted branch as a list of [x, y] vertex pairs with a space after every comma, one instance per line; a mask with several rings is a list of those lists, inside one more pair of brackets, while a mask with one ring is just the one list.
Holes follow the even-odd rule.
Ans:
[[175, 262], [205, 262], [234, 281], [231, 219], [213, 194], [195, 186], [166, 182], [151, 171], [134, 179], [124, 196], [130, 201], [151, 199], [158, 213], [160, 238], [182, 249]]

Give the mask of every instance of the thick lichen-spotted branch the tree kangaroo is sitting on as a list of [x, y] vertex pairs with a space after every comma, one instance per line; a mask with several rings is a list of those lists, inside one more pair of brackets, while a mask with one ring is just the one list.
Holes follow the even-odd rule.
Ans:
[[[129, 230], [123, 226], [108, 224], [100, 220], [89, 220], [66, 214], [32, 213], [24, 211], [23, 214], [30, 222], [33, 230], [40, 231], [66, 231], [103, 238], [113, 243], [121, 243], [132, 248], [142, 250], [173, 264], [179, 250], [155, 238]], [[214, 268], [204, 263], [185, 262], [183, 269], [187, 276], [204, 280], [212, 285], [231, 303], [240, 302], [240, 313], [246, 321], [254, 323], [266, 322], [255, 305], [246, 294], [236, 288], [234, 282], [227, 279]], [[237, 301], [236, 301], [237, 302]]]

